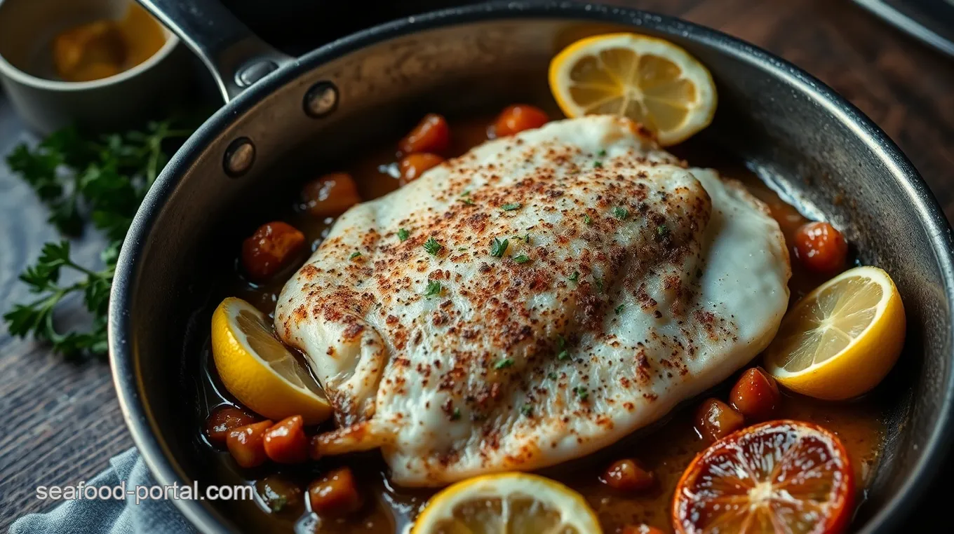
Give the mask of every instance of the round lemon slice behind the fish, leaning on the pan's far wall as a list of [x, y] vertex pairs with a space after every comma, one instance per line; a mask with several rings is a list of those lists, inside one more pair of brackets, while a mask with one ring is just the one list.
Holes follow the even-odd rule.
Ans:
[[716, 113], [709, 71], [673, 43], [636, 33], [571, 44], [550, 61], [550, 91], [568, 117], [628, 116], [662, 146], [709, 126]]

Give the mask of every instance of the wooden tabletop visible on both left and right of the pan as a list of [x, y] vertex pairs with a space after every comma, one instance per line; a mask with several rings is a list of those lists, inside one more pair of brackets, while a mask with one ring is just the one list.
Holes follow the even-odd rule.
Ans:
[[[848, 0], [615, 3], [725, 31], [818, 76], [901, 146], [954, 218], [954, 59]], [[0, 154], [29, 138], [21, 131], [0, 95]], [[0, 311], [6, 312], [28, 297], [16, 274], [55, 236], [31, 190], [3, 163], [0, 214]], [[94, 236], [74, 246], [91, 261], [98, 248]], [[133, 443], [106, 362], [71, 363], [0, 329], [0, 532], [5, 532], [16, 517], [51, 507], [35, 499], [37, 485], [89, 480]]]

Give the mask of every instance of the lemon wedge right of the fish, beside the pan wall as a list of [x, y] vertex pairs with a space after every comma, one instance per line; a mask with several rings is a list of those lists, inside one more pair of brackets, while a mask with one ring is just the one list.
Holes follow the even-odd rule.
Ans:
[[765, 369], [798, 393], [840, 401], [888, 374], [904, 344], [898, 288], [877, 267], [856, 267], [798, 301], [765, 352]]

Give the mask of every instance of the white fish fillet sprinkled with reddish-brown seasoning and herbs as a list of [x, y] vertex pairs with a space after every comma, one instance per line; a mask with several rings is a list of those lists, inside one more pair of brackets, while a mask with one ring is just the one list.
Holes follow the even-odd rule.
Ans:
[[323, 454], [381, 447], [395, 483], [440, 485], [658, 420], [768, 344], [790, 275], [741, 185], [587, 116], [352, 208], [275, 325], [335, 407]]

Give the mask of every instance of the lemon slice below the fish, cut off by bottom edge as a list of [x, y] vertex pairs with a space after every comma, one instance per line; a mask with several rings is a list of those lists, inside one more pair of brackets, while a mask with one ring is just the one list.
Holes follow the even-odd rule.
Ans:
[[430, 499], [411, 534], [601, 534], [579, 493], [526, 473], [468, 479]]

